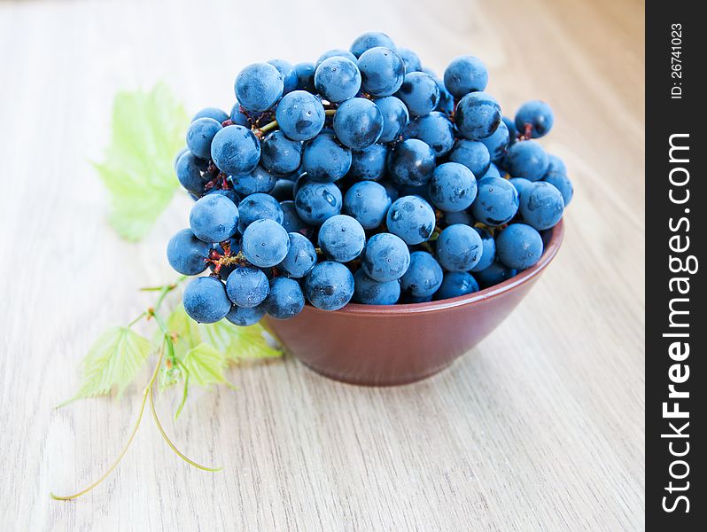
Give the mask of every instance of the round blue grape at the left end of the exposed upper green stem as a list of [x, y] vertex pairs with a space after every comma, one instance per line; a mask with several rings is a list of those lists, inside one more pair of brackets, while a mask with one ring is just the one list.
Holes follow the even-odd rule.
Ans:
[[235, 176], [252, 172], [260, 160], [260, 142], [250, 129], [227, 126], [211, 143], [211, 159], [221, 172]]

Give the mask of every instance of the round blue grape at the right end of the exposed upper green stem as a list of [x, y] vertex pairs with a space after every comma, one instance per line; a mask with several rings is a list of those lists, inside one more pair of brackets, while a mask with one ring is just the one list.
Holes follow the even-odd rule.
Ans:
[[383, 113], [369, 99], [351, 98], [338, 106], [333, 127], [341, 144], [362, 150], [381, 136]]

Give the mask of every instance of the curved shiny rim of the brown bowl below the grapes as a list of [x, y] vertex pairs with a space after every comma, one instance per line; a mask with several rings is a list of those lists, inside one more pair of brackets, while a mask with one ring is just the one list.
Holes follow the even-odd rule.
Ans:
[[[478, 292], [469, 293], [466, 295], [460, 295], [458, 297], [440, 300], [440, 301], [428, 301], [425, 303], [401, 303], [395, 305], [364, 305], [361, 303], [348, 303], [346, 307], [342, 309], [335, 310], [331, 312], [330, 310], [317, 309], [313, 305], [307, 302], [306, 308], [310, 311], [322, 312], [324, 314], [338, 314], [338, 315], [355, 315], [355, 316], [365, 316], [365, 315], [397, 315], [397, 314], [418, 314], [422, 312], [434, 312], [444, 309], [452, 309], [455, 307], [460, 307], [462, 305], [470, 305], [478, 301], [490, 300], [494, 297], [498, 297], [503, 293], [511, 292], [517, 289], [519, 286], [524, 285], [529, 282], [532, 278], [535, 278], [540, 274], [542, 270], [548, 266], [550, 262], [555, 258], [555, 255], [560, 249], [564, 237], [564, 220], [560, 220], [554, 227], [548, 230], [549, 237], [547, 239], [547, 245], [540, 255], [540, 260], [536, 262], [533, 266], [527, 270], [521, 271], [517, 276], [506, 279], [498, 285], [489, 286]], [[547, 233], [546, 233], [547, 234]]]

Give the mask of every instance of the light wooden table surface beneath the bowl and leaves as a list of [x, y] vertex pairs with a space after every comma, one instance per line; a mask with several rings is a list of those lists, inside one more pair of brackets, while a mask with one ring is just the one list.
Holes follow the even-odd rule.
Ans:
[[[641, 530], [641, 2], [238, 4], [0, 3], [0, 528]], [[509, 114], [552, 104], [544, 144], [575, 184], [556, 262], [432, 379], [368, 389], [292, 359], [237, 368], [238, 391], [197, 394], [168, 426], [224, 472], [183, 464], [146, 419], [104, 485], [51, 501], [127, 437], [139, 387], [52, 406], [97, 333], [149, 303], [136, 288], [173, 278], [164, 245], [189, 205], [175, 200], [139, 245], [105, 222], [88, 161], [108, 142], [114, 92], [164, 79], [190, 111], [225, 108], [245, 64], [315, 59], [370, 28], [438, 72], [462, 53], [485, 59]], [[166, 419], [176, 399], [160, 403]]]

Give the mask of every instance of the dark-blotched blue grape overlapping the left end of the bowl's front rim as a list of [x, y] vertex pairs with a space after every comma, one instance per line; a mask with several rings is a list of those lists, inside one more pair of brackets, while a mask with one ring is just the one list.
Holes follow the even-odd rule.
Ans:
[[343, 264], [320, 262], [305, 278], [305, 294], [317, 309], [341, 309], [354, 296], [354, 276]]

